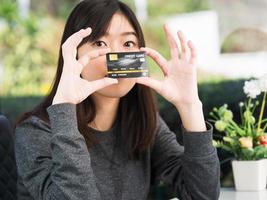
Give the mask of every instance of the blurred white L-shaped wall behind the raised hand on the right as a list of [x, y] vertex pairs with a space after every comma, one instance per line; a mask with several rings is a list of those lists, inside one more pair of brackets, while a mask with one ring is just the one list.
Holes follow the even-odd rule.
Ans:
[[232, 78], [260, 77], [267, 73], [267, 52], [220, 54], [219, 21], [215, 11], [176, 15], [167, 23], [176, 38], [176, 32], [182, 30], [194, 42], [198, 67], [204, 71]]

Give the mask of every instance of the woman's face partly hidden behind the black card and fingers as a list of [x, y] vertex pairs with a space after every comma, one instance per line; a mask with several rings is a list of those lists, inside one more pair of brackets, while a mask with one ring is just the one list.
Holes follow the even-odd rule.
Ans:
[[[94, 30], [92, 30], [94, 31]], [[78, 49], [78, 57], [101, 48], [110, 48], [111, 52], [139, 51], [138, 39], [127, 18], [115, 13], [109, 24], [106, 34], [97, 41], [88, 42]], [[88, 81], [97, 80], [107, 75], [106, 56], [93, 59], [82, 71], [82, 77]], [[114, 84], [96, 91], [93, 95], [119, 98], [126, 95], [135, 85], [135, 78], [119, 78]]]

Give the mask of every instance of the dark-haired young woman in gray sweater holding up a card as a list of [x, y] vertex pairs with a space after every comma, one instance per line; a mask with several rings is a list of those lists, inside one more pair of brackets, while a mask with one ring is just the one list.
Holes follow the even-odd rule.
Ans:
[[[198, 97], [196, 50], [179, 32], [179, 53], [164, 30], [170, 60], [141, 48], [141, 27], [122, 2], [85, 0], [74, 8], [51, 93], [16, 128], [19, 199], [142, 200], [159, 181], [182, 200], [218, 199], [219, 163]], [[163, 80], [106, 77], [106, 53], [140, 50]], [[179, 112], [184, 147], [158, 115], [151, 88]]]

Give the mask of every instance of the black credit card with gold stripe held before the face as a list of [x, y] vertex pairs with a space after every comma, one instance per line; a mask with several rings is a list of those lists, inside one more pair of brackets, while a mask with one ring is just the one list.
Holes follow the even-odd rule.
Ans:
[[106, 59], [110, 78], [149, 76], [144, 51], [108, 53]]

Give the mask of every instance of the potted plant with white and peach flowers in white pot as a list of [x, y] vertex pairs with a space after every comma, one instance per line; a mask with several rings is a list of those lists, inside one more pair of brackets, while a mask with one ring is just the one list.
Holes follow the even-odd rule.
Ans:
[[[210, 112], [215, 128], [222, 133], [222, 140], [213, 140], [214, 146], [231, 152], [236, 190], [263, 190], [267, 182], [267, 118], [264, 109], [267, 96], [267, 75], [245, 81], [243, 87], [247, 95], [240, 102], [241, 122], [233, 119], [227, 104], [213, 108]], [[263, 94], [261, 103], [255, 98]], [[260, 106], [260, 114], [255, 117], [255, 109]]]

